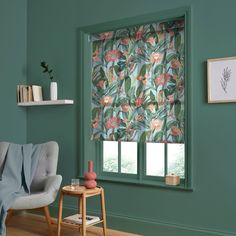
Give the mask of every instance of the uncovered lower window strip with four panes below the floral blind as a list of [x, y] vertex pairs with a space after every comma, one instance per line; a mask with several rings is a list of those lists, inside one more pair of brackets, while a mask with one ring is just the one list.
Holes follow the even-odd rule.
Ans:
[[[143, 148], [143, 156], [138, 155], [138, 150]], [[185, 178], [185, 150], [184, 144], [162, 144], [135, 142], [103, 142], [102, 175], [108, 173], [131, 174], [137, 179], [150, 177], [163, 178], [168, 173], [175, 173], [182, 179]], [[138, 159], [144, 159], [139, 162]], [[138, 171], [138, 163], [140, 169]], [[125, 175], [127, 177], [127, 175]]]

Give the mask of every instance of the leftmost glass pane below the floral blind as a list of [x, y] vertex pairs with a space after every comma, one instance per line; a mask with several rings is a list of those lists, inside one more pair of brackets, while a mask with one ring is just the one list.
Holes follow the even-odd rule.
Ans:
[[103, 171], [118, 172], [118, 142], [103, 142]]

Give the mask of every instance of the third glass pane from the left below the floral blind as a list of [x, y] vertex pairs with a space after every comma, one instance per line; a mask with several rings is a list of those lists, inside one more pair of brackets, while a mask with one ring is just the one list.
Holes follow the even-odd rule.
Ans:
[[164, 176], [165, 174], [165, 144], [146, 144], [146, 175]]

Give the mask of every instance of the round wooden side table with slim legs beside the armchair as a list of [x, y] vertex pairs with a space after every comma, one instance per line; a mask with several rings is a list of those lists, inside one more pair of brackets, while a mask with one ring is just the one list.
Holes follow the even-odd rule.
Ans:
[[[61, 226], [65, 225], [73, 225], [75, 224], [69, 223], [68, 221], [64, 221], [62, 219], [62, 211], [63, 211], [63, 198], [64, 196], [71, 196], [79, 198], [79, 213], [82, 215], [82, 224], [76, 224], [76, 227], [79, 227], [80, 232], [83, 236], [86, 236], [86, 228], [102, 223], [103, 226], [103, 235], [106, 236], [106, 210], [105, 210], [105, 200], [104, 200], [104, 190], [102, 187], [96, 187], [94, 189], [86, 189], [84, 186], [78, 186], [76, 188], [72, 188], [71, 186], [64, 186], [60, 192], [60, 201], [59, 201], [59, 210], [58, 210], [58, 222], [57, 222], [57, 236], [61, 236]], [[86, 198], [100, 196], [101, 199], [101, 210], [102, 210], [102, 218], [95, 223], [86, 224]]]

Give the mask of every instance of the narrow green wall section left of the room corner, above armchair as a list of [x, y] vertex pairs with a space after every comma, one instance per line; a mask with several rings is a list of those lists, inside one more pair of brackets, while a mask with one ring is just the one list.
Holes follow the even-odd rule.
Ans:
[[16, 85], [26, 83], [27, 0], [0, 0], [0, 141], [26, 142], [26, 112]]

